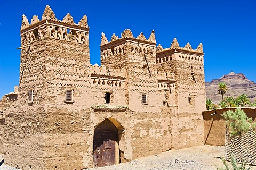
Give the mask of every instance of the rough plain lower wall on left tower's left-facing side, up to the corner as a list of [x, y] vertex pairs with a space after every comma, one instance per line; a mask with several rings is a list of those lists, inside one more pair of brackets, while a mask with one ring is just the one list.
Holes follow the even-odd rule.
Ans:
[[[44, 154], [44, 140], [41, 135], [43, 107], [21, 106], [18, 102], [9, 102], [5, 111], [4, 155], [5, 165], [29, 169], [44, 167], [44, 160], [38, 157]], [[35, 167], [36, 166], [36, 167]]]

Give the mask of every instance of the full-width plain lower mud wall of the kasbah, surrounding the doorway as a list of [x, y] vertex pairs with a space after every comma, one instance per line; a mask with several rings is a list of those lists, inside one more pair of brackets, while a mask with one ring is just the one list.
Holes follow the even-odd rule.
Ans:
[[124, 128], [119, 142], [122, 162], [200, 145], [203, 137], [199, 117], [175, 115], [175, 108], [140, 113], [122, 108], [73, 109], [14, 103], [6, 113], [5, 164], [21, 169], [30, 165], [32, 169], [93, 167], [94, 128], [105, 118], [116, 120]]

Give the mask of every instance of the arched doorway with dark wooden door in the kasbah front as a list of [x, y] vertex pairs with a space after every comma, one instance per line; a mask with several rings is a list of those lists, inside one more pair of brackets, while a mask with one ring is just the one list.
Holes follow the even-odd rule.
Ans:
[[94, 167], [119, 164], [118, 143], [120, 141], [123, 128], [117, 121], [114, 119], [111, 120], [112, 121], [109, 119], [104, 120], [94, 130]]

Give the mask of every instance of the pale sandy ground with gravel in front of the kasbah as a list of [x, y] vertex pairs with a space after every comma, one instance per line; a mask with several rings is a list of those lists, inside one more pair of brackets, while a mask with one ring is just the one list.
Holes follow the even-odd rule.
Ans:
[[[220, 156], [224, 156], [224, 147], [215, 147], [202, 145], [179, 150], [169, 150], [162, 154], [143, 157], [131, 162], [121, 163], [120, 165], [91, 168], [95, 170], [111, 169], [111, 170], [136, 170], [136, 169], [189, 169], [199, 170], [207, 169], [216, 170], [217, 167], [223, 167]], [[231, 167], [231, 166], [230, 166]], [[252, 170], [256, 170], [256, 166], [251, 166]]]

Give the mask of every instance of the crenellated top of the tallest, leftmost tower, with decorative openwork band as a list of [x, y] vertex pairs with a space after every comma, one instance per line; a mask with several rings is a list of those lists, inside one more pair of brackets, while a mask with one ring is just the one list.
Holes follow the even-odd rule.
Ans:
[[78, 24], [69, 13], [62, 20], [58, 20], [50, 6], [46, 5], [41, 21], [34, 15], [29, 24], [27, 16], [22, 15], [20, 36], [22, 47], [46, 37], [75, 41], [89, 46], [87, 16], [84, 15]]

